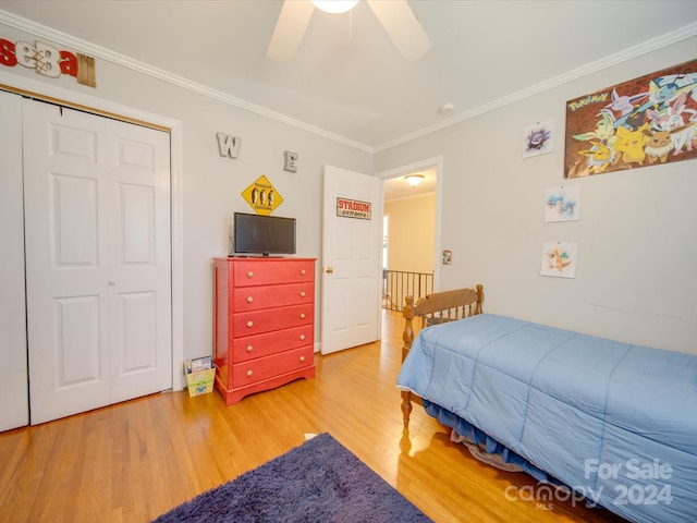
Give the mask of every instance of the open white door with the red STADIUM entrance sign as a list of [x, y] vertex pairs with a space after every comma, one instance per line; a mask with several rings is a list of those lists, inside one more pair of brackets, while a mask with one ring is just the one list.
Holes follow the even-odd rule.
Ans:
[[382, 202], [377, 178], [326, 166], [323, 182], [321, 352], [329, 354], [379, 339]]

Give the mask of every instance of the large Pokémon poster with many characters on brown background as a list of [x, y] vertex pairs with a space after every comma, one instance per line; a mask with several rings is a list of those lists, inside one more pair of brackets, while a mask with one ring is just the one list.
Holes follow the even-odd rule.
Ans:
[[566, 102], [564, 178], [697, 158], [697, 60]]

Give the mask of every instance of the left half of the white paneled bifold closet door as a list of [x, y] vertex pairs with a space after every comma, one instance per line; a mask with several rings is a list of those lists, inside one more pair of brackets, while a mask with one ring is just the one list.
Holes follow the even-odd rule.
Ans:
[[30, 421], [110, 403], [106, 119], [23, 100]]

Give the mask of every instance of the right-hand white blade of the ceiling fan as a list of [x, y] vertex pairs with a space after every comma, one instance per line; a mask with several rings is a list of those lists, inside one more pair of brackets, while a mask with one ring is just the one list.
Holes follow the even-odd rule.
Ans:
[[367, 0], [404, 60], [421, 58], [431, 40], [406, 0]]

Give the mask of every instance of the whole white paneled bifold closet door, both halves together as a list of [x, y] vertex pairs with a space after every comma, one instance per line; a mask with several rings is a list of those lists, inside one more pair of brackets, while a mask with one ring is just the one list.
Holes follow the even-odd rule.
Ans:
[[32, 423], [171, 388], [169, 135], [23, 109]]

